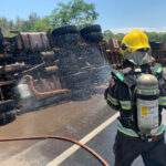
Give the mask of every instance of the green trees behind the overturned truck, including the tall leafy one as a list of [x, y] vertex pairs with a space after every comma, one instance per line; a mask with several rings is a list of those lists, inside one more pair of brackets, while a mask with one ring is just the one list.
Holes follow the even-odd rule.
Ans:
[[6, 37], [11, 35], [10, 30], [20, 32], [40, 32], [55, 29], [63, 25], [74, 24], [83, 28], [93, 24], [98, 13], [95, 11], [94, 3], [84, 0], [71, 0], [68, 3], [58, 3], [58, 8], [51, 11], [50, 15], [40, 18], [37, 13], [31, 13], [27, 20], [17, 18], [8, 20], [0, 17], [0, 28]]

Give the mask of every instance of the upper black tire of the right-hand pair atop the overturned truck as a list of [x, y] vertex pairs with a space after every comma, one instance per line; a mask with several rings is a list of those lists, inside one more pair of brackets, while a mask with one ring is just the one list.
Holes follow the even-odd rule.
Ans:
[[89, 25], [89, 27], [83, 28], [80, 31], [82, 37], [84, 37], [85, 34], [92, 33], [92, 32], [102, 32], [101, 25], [100, 24]]

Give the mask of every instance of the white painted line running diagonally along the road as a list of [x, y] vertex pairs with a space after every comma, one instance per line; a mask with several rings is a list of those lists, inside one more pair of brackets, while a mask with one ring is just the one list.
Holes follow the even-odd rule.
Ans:
[[[98, 127], [93, 129], [91, 133], [89, 133], [79, 142], [82, 144], [86, 144], [89, 141], [95, 137], [100, 132], [102, 132], [105, 127], [107, 127], [111, 123], [113, 123], [118, 116], [120, 113], [114, 114], [112, 117], [110, 117], [107, 121], [102, 123]], [[55, 159], [50, 162], [46, 166], [59, 166], [63, 160], [65, 160], [68, 157], [74, 154], [79, 148], [81, 148], [79, 145], [72, 145], [70, 148], [68, 148], [61, 155], [59, 155]]]

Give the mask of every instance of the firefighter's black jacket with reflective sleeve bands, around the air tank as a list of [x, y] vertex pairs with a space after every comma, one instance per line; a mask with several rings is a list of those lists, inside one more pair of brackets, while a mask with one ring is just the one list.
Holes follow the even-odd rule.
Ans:
[[[157, 69], [157, 63], [146, 64], [141, 66], [141, 73], [153, 74], [153, 70]], [[131, 76], [134, 80], [137, 80], [141, 75], [139, 72], [135, 72], [134, 66], [131, 63], [126, 63], [125, 68], [120, 72], [124, 74], [124, 76]], [[159, 124], [162, 122], [162, 111], [166, 107], [166, 69], [163, 68], [160, 73], [156, 74], [157, 80], [159, 82]], [[133, 94], [134, 94], [135, 85], [128, 87], [121, 79], [117, 79], [114, 73], [112, 73], [112, 77], [110, 79], [110, 86], [105, 90], [104, 96], [107, 104], [114, 110], [120, 111], [118, 121], [126, 128], [132, 128], [137, 131], [136, 123], [136, 106], [133, 103]]]

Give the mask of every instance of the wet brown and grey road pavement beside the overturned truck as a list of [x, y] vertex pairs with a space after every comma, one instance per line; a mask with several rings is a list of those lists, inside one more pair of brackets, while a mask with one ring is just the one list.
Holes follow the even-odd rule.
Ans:
[[[0, 137], [61, 135], [80, 141], [115, 114], [116, 112], [106, 105], [103, 95], [94, 95], [87, 101], [69, 102], [21, 114], [14, 122], [0, 126]], [[166, 114], [164, 116], [166, 117]], [[115, 134], [116, 121], [86, 144], [110, 166], [114, 163], [112, 149]], [[58, 139], [0, 143], [0, 166], [50, 166], [53, 159], [72, 145]], [[142, 165], [141, 157], [133, 163], [133, 166]], [[101, 166], [101, 164], [85, 149], [79, 148], [69, 157], [64, 157], [60, 166]]]

